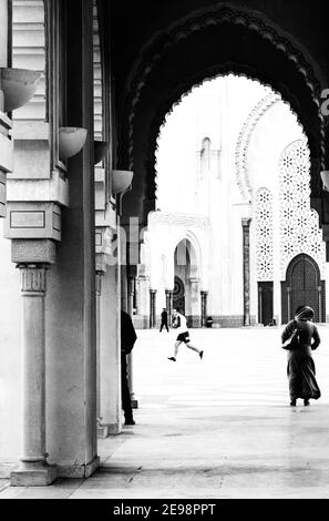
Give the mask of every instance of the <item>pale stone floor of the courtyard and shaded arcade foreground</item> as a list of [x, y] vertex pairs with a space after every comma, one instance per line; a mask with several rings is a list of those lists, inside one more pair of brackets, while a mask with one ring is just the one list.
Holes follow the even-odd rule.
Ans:
[[140, 330], [136, 426], [100, 440], [89, 480], [4, 488], [6, 498], [329, 498], [329, 326], [315, 351], [322, 397], [289, 407], [281, 328]]

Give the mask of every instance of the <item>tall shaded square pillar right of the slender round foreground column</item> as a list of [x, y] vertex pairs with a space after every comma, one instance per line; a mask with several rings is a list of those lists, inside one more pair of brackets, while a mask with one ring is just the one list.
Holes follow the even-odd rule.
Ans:
[[68, 161], [69, 207], [49, 276], [47, 345], [51, 365], [50, 461], [64, 478], [88, 478], [100, 464], [96, 407], [96, 309], [93, 129], [93, 6], [65, 2], [68, 125], [88, 130]]

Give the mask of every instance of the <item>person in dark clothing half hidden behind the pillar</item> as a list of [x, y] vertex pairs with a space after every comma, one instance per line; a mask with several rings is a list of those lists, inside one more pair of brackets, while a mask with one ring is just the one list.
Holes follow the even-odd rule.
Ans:
[[127, 381], [126, 356], [132, 351], [136, 339], [137, 335], [131, 316], [121, 310], [121, 397], [124, 411], [124, 425], [126, 426], [135, 425]]

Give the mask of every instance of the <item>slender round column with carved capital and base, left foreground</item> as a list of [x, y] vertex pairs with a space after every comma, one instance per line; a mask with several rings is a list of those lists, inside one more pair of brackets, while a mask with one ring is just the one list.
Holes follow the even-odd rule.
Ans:
[[10, 484], [47, 486], [56, 478], [45, 452], [45, 270], [43, 264], [19, 264], [23, 343], [23, 456]]

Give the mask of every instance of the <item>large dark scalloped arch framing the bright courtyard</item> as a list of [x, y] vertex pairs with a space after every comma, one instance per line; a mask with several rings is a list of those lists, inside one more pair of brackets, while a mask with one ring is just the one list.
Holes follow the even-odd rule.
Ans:
[[156, 140], [167, 112], [193, 86], [227, 73], [259, 80], [289, 103], [310, 146], [311, 197], [320, 197], [326, 151], [315, 71], [319, 75], [308, 52], [260, 12], [217, 4], [158, 32], [135, 62], [123, 96], [119, 161], [135, 172], [124, 215], [138, 215], [145, 225], [154, 210]]

